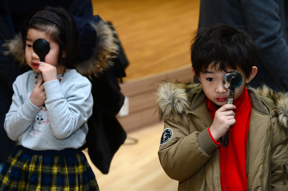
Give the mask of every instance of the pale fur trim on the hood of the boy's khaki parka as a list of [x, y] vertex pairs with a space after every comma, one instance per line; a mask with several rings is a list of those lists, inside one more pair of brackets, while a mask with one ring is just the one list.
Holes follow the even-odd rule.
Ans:
[[[196, 90], [197, 89], [197, 90]], [[199, 83], [161, 83], [156, 92], [158, 98], [158, 112], [160, 119], [166, 119], [175, 114], [183, 114], [185, 109], [190, 108], [191, 99], [202, 89]], [[252, 88], [250, 88], [252, 89]], [[261, 86], [254, 90], [259, 96], [273, 100], [276, 107], [278, 121], [282, 128], [288, 129], [288, 94], [275, 92], [267, 86]]]

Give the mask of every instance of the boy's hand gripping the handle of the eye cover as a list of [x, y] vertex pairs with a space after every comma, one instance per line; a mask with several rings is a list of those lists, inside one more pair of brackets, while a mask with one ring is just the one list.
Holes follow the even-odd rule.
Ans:
[[223, 137], [230, 126], [236, 123], [234, 109], [236, 109], [235, 105], [225, 104], [215, 112], [214, 120], [210, 126], [210, 133], [215, 141]]

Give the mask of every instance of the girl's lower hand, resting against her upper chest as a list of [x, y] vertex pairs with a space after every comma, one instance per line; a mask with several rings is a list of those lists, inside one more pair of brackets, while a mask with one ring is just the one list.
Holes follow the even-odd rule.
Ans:
[[30, 94], [30, 101], [36, 106], [41, 107], [46, 101], [46, 93], [43, 86], [43, 77], [40, 78], [35, 88]]

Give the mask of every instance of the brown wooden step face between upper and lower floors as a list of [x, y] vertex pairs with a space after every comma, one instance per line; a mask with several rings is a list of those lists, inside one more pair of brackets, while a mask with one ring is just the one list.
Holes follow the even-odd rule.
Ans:
[[191, 66], [121, 84], [122, 93], [129, 98], [129, 115], [118, 115], [117, 118], [125, 131], [134, 131], [159, 122], [155, 92], [156, 83], [163, 80], [190, 82]]

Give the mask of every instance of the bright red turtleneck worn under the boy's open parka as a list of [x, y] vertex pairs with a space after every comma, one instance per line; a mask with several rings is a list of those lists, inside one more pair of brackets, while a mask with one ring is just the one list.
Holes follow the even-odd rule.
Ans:
[[[207, 98], [206, 103], [213, 120], [215, 112], [218, 110], [217, 105]], [[246, 88], [233, 104], [236, 106], [234, 110], [236, 124], [230, 126], [227, 147], [223, 147], [222, 144], [219, 147], [221, 189], [247, 190], [246, 144], [252, 104]], [[212, 136], [211, 138], [214, 140]]]

